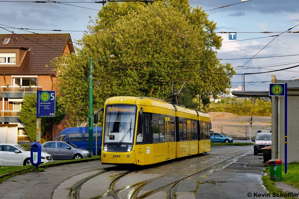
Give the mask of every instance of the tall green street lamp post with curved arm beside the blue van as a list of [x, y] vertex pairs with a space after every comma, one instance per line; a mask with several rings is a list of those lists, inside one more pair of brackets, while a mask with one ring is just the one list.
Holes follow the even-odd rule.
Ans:
[[[100, 59], [97, 59], [95, 61], [99, 61], [101, 59], [105, 59], [105, 58], [109, 58], [109, 57], [114, 57], [114, 55], [109, 55]], [[92, 57], [89, 58], [89, 133], [88, 133], [88, 137], [89, 137], [89, 150], [91, 150], [93, 152], [93, 119], [92, 119], [92, 98], [93, 98], [93, 94], [92, 94], [92, 72], [93, 72], [93, 63], [95, 62], [92, 60]]]

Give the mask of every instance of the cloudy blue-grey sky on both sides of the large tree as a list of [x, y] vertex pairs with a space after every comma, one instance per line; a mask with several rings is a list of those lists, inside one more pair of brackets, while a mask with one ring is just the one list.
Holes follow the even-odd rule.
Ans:
[[[95, 4], [91, 0], [74, 0], [86, 3], [65, 4], [1, 1], [0, 27], [6, 25], [16, 28], [45, 29], [29, 30], [35, 33], [71, 33], [73, 41], [80, 39], [83, 32], [72, 32], [71, 30], [86, 30], [89, 16], [95, 18], [97, 10], [102, 7], [102, 4]], [[228, 40], [228, 33], [217, 33], [223, 38], [222, 47], [218, 50], [218, 58], [227, 59], [222, 60], [221, 63], [231, 63], [237, 73], [267, 72], [299, 65], [299, 33], [282, 33], [299, 24], [298, 0], [189, 0], [189, 3], [192, 7], [199, 5], [207, 10], [209, 20], [217, 23], [216, 32], [237, 32], [237, 40]], [[222, 7], [226, 5], [230, 6]], [[15, 33], [28, 33], [11, 28], [7, 30], [14, 30]], [[299, 25], [289, 31], [299, 31]], [[0, 33], [8, 34], [10, 32], [0, 29]], [[280, 36], [276, 37], [276, 35]], [[273, 41], [270, 43], [271, 40]], [[256, 55], [255, 58], [250, 61], [249, 59], [239, 59], [252, 58], [254, 55]], [[248, 63], [246, 63], [247, 61]], [[286, 71], [245, 75], [245, 82], [252, 82], [245, 83], [245, 90], [266, 90], [270, 82], [261, 83], [260, 81], [271, 81], [271, 75], [276, 75], [277, 79], [297, 79], [299, 78], [299, 67]], [[242, 75], [234, 75], [232, 87], [237, 88], [238, 85], [241, 85], [239, 83], [241, 81]]]

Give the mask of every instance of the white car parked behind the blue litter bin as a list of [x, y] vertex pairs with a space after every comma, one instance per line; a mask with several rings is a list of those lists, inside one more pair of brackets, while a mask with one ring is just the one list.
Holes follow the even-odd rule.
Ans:
[[[42, 163], [53, 162], [52, 156], [42, 152]], [[19, 144], [0, 144], [0, 166], [30, 165], [30, 149]]]

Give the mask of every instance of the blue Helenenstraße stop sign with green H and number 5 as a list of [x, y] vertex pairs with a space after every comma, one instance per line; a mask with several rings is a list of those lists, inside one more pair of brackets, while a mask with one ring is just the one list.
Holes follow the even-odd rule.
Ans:
[[55, 117], [55, 94], [54, 90], [39, 92], [39, 116]]

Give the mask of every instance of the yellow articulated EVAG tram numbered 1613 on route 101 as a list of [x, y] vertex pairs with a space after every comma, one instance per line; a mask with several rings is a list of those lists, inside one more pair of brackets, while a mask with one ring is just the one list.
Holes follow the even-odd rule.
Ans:
[[146, 97], [104, 105], [102, 164], [148, 165], [210, 151], [208, 114]]

